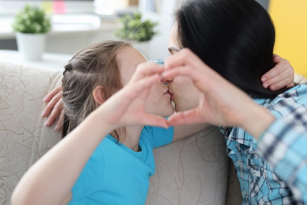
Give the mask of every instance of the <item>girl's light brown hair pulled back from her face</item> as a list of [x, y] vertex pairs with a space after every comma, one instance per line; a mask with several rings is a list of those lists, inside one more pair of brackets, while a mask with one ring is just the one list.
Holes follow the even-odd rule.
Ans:
[[[104, 99], [123, 87], [116, 54], [127, 42], [104, 41], [79, 51], [65, 66], [62, 79], [64, 119], [62, 137], [77, 127], [97, 107], [95, 87], [102, 86]], [[119, 140], [119, 130], [111, 134]]]

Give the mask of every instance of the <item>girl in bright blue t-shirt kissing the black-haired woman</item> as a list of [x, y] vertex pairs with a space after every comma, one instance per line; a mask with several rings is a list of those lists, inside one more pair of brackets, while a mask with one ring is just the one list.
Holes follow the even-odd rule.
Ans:
[[167, 128], [164, 117], [174, 108], [159, 78], [163, 68], [144, 62], [120, 41], [95, 44], [70, 60], [62, 80], [65, 138], [26, 172], [13, 205], [145, 203], [153, 148], [203, 125]]

